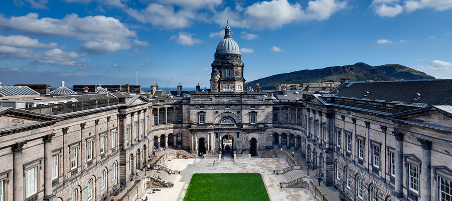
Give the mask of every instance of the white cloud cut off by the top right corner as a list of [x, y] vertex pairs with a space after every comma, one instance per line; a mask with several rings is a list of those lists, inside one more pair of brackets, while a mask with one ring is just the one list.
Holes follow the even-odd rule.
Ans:
[[452, 9], [450, 0], [373, 0], [370, 6], [380, 17], [395, 17], [403, 11], [414, 12], [419, 9], [445, 11]]

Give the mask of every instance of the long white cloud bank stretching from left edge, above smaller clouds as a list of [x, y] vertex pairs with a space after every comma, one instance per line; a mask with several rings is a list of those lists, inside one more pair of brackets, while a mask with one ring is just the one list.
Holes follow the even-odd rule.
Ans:
[[39, 19], [38, 14], [29, 13], [9, 19], [0, 16], [0, 26], [27, 34], [73, 37], [86, 41], [81, 44], [81, 50], [93, 53], [130, 49], [130, 38], [137, 38], [136, 33], [126, 28], [118, 19], [105, 16], [79, 18], [77, 14], [69, 14], [63, 19]]

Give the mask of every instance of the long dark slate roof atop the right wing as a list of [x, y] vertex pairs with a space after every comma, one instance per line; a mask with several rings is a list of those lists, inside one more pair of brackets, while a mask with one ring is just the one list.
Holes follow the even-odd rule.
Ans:
[[[337, 92], [339, 91], [339, 92]], [[365, 96], [369, 92], [369, 95]], [[336, 94], [337, 93], [337, 94]], [[416, 98], [416, 94], [420, 98]], [[404, 80], [345, 83], [331, 91], [337, 97], [400, 101], [405, 104], [452, 105], [452, 80]]]

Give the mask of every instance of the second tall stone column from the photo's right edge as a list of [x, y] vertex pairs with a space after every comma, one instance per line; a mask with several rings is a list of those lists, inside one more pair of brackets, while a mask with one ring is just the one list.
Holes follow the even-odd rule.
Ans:
[[395, 179], [394, 179], [394, 195], [402, 197], [403, 183], [403, 133], [392, 131], [395, 136]]

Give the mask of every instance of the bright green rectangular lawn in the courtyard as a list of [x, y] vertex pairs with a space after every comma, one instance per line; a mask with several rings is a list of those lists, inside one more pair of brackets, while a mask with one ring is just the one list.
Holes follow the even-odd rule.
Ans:
[[193, 174], [184, 200], [270, 200], [258, 173]]

